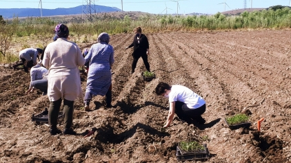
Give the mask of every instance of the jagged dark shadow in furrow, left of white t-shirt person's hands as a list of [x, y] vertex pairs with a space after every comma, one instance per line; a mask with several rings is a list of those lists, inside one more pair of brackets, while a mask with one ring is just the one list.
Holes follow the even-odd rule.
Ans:
[[95, 137], [95, 140], [99, 140], [103, 143], [114, 143], [119, 144], [123, 141], [125, 141], [128, 138], [131, 138], [134, 133], [137, 132], [137, 129], [143, 130], [145, 133], [150, 133], [150, 135], [158, 135], [160, 137], [169, 136], [169, 133], [158, 131], [157, 129], [153, 129], [152, 127], [149, 127], [145, 124], [137, 123], [135, 124], [132, 129], [129, 129], [128, 131], [124, 131], [123, 133], [114, 134], [114, 129], [108, 125], [106, 127], [101, 127], [97, 129], [97, 135]]

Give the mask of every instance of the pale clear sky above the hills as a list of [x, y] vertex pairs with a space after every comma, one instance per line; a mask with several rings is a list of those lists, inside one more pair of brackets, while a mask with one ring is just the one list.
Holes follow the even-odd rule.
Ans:
[[[290, 0], [91, 0], [100, 6], [123, 9], [123, 11], [140, 11], [151, 14], [188, 14], [192, 12], [216, 14], [225, 10], [245, 8], [268, 8], [270, 6], [290, 6]], [[90, 0], [0, 0], [1, 8], [73, 8], [90, 3]], [[179, 6], [177, 5], [179, 4]], [[226, 5], [225, 5], [226, 4]], [[177, 8], [178, 7], [178, 8]]]

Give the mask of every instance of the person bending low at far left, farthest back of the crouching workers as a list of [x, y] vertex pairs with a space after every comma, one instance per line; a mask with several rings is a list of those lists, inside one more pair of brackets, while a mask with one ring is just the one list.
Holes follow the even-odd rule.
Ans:
[[[13, 69], [15, 70], [19, 65], [23, 65], [26, 61], [32, 61], [33, 65], [37, 65], [37, 58], [39, 58], [39, 55], [43, 53], [42, 49], [39, 48], [26, 48], [24, 50], [21, 50], [19, 52], [19, 59], [21, 60], [21, 63], [18, 63], [16, 65], [13, 65]], [[28, 72], [28, 69], [26, 66], [23, 66], [23, 69], [25, 72]]]

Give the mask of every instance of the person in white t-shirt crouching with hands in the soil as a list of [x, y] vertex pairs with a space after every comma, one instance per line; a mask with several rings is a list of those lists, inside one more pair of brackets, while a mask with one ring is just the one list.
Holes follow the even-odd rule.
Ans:
[[170, 127], [175, 111], [182, 120], [189, 120], [189, 118], [201, 120], [201, 114], [206, 109], [205, 100], [188, 87], [182, 85], [170, 86], [167, 83], [160, 82], [155, 92], [158, 96], [169, 98], [170, 110], [164, 127]]

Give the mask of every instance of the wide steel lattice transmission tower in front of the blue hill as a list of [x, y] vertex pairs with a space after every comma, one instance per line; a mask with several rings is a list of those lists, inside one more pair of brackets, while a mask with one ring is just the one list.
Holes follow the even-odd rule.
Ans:
[[[95, 10], [95, 1], [94, 0], [83, 0], [82, 6], [82, 19], [86, 21], [93, 21], [95, 17], [96, 10]], [[84, 14], [84, 17], [83, 17]]]

